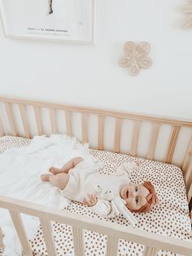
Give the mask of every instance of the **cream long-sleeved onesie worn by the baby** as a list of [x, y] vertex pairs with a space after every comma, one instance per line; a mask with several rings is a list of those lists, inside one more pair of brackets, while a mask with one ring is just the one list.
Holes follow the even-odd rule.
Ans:
[[[126, 165], [127, 170], [137, 168], [135, 162]], [[117, 171], [116, 174], [110, 175], [100, 174], [98, 172], [99, 167], [101, 165], [98, 162], [84, 160], [69, 170], [70, 178], [66, 188], [63, 189], [62, 195], [72, 201], [82, 202], [90, 194], [98, 196], [98, 188], [103, 188], [111, 190], [114, 196], [120, 196], [120, 189], [124, 183], [130, 182], [129, 174], [126, 171]], [[113, 209], [111, 201], [103, 200], [99, 196], [97, 204], [89, 207], [89, 209], [105, 218], [115, 217], [115, 209]]]

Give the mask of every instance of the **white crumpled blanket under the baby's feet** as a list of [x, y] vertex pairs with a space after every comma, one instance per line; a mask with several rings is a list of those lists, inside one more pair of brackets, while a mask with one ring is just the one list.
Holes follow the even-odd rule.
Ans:
[[[62, 208], [68, 206], [69, 201], [60, 196], [59, 188], [42, 183], [40, 176], [50, 166], [63, 166], [72, 157], [83, 157], [94, 164], [89, 145], [67, 135], [36, 136], [27, 147], [7, 150], [0, 155], [0, 195], [58, 209], [61, 203]], [[22, 217], [30, 239], [39, 226], [38, 218], [24, 214]], [[20, 255], [20, 241], [7, 210], [0, 209], [0, 227], [5, 235], [3, 255]]]

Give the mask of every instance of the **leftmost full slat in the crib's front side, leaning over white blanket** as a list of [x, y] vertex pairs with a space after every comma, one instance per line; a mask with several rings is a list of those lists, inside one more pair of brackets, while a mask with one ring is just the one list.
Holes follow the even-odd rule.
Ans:
[[20, 244], [22, 245], [22, 249], [24, 251], [24, 255], [26, 256], [33, 256], [33, 251], [31, 249], [31, 246], [28, 242], [27, 234], [24, 229], [24, 223], [22, 221], [22, 218], [20, 216], [20, 213], [9, 211], [11, 215], [11, 219], [14, 223], [15, 230], [17, 232], [17, 235], [20, 239]]

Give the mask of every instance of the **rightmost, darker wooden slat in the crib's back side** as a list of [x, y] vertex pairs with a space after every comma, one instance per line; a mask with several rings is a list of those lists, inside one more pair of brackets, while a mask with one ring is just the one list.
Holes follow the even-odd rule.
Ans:
[[172, 136], [168, 144], [168, 151], [164, 160], [165, 163], [170, 164], [172, 162], [172, 157], [173, 157], [174, 150], [176, 148], [180, 128], [181, 128], [180, 126], [173, 126], [172, 128]]

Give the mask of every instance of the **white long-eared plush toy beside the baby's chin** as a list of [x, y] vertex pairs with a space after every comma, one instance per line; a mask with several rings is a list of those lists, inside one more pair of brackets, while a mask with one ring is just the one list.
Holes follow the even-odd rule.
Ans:
[[137, 219], [125, 206], [126, 201], [124, 201], [119, 196], [115, 196], [110, 189], [102, 189], [98, 186], [98, 196], [99, 199], [111, 201], [111, 205], [115, 211], [116, 216], [123, 214], [124, 218], [126, 218], [132, 226], [137, 224]]

